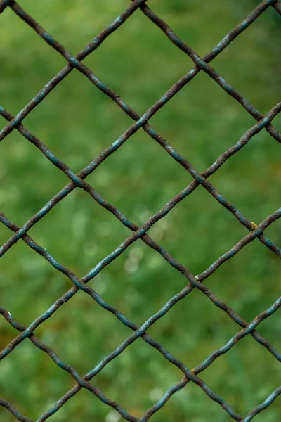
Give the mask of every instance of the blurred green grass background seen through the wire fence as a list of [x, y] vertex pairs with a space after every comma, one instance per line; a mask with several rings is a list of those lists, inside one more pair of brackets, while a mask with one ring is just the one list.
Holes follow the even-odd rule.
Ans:
[[[35, 1], [22, 6], [72, 53], [77, 53], [124, 11], [129, 0]], [[201, 56], [209, 52], [258, 0], [151, 0], [150, 6]], [[10, 9], [0, 16], [0, 98], [17, 114], [63, 66], [65, 60]], [[269, 8], [211, 65], [265, 114], [280, 101], [280, 17]], [[86, 58], [86, 65], [138, 113], [143, 114], [192, 68], [148, 18], [136, 11]], [[1, 127], [6, 122], [2, 117]], [[150, 120], [155, 129], [203, 171], [235, 143], [254, 119], [200, 72]], [[130, 125], [110, 98], [74, 70], [24, 121], [51, 151], [79, 172]], [[275, 127], [281, 130], [281, 119]], [[259, 223], [280, 206], [278, 144], [263, 130], [213, 176], [211, 182], [251, 221]], [[1, 142], [0, 209], [24, 224], [68, 179], [15, 130]], [[185, 188], [190, 175], [139, 130], [87, 179], [133, 222], [142, 224]], [[266, 234], [281, 243], [280, 222]], [[30, 230], [62, 264], [83, 276], [129, 236], [129, 230], [88, 194], [75, 190]], [[231, 248], [247, 229], [199, 187], [149, 234], [176, 260], [198, 274]], [[11, 232], [0, 226], [3, 244]], [[259, 241], [223, 264], [207, 284], [244, 319], [251, 321], [280, 294], [280, 262]], [[141, 240], [91, 281], [102, 297], [137, 324], [164, 305], [186, 279]], [[19, 241], [1, 259], [1, 306], [30, 324], [72, 286], [48, 262]], [[148, 331], [188, 367], [200, 364], [239, 331], [202, 293], [192, 293]], [[259, 332], [281, 347], [280, 314]], [[130, 331], [89, 296], [77, 293], [35, 333], [81, 374], [112, 352]], [[1, 349], [17, 333], [0, 319]], [[247, 337], [219, 357], [202, 378], [245, 415], [280, 384], [280, 366]], [[93, 379], [108, 397], [141, 416], [182, 374], [142, 339], [129, 346]], [[0, 397], [38, 418], [74, 384], [72, 378], [29, 340], [1, 362]], [[0, 408], [1, 421], [15, 419]], [[117, 422], [119, 415], [88, 391], [70, 399], [52, 422]], [[227, 422], [230, 416], [196, 385], [177, 392], [153, 422]], [[275, 400], [256, 422], [281, 420]]]

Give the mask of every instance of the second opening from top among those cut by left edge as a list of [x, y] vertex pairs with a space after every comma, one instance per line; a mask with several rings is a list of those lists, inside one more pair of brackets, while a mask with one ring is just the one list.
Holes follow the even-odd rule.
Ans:
[[[19, 225], [30, 219], [69, 181], [17, 131], [1, 143], [0, 166], [1, 211]], [[3, 230], [1, 224], [0, 231]]]

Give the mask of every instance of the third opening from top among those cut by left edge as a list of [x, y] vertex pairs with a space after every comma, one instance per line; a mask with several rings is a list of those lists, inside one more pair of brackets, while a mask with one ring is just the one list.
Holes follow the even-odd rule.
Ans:
[[[71, 287], [63, 274], [22, 240], [1, 257], [0, 284], [1, 307], [8, 309], [15, 319], [27, 326]], [[8, 343], [17, 333], [9, 324], [1, 324], [2, 330], [8, 330]], [[3, 341], [2, 348], [6, 344]]]

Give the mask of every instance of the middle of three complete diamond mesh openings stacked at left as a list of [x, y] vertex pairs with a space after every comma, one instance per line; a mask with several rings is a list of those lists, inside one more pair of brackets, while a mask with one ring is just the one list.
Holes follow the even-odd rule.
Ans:
[[61, 264], [83, 276], [131, 231], [86, 192], [77, 189], [34, 224], [29, 233]]

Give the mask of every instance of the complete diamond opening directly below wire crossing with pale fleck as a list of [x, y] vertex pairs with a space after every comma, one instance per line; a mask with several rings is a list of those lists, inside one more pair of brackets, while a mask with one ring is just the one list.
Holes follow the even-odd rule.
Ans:
[[235, 335], [237, 324], [195, 289], [148, 333], [164, 346], [169, 345], [174, 356], [193, 368]]

